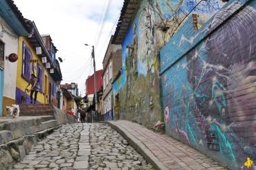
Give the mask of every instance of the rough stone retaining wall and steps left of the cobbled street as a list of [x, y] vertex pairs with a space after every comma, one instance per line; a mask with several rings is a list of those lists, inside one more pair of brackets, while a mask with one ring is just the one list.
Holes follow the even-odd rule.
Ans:
[[[37, 107], [42, 106], [44, 105]], [[22, 160], [41, 138], [50, 134], [59, 125], [76, 122], [73, 116], [57, 107], [53, 106], [52, 109], [53, 116], [24, 116], [1, 120], [0, 170], [9, 169], [12, 164]]]

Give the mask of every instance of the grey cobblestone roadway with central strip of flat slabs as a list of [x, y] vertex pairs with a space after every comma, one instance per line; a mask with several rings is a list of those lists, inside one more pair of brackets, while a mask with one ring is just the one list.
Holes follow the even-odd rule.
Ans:
[[104, 124], [68, 124], [12, 169], [152, 169], [116, 131]]

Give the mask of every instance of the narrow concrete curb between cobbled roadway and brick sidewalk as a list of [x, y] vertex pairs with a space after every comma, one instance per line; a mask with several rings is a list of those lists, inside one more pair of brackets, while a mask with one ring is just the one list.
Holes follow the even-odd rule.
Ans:
[[105, 123], [107, 125], [110, 125], [113, 129], [118, 131], [118, 133], [121, 134], [129, 142], [129, 144], [132, 147], [134, 147], [134, 149], [136, 149], [136, 151], [138, 151], [138, 153], [140, 153], [147, 160], [147, 162], [152, 164], [155, 169], [159, 169], [159, 170], [165, 170], [165, 169], [167, 170], [168, 169], [166, 167], [166, 165], [163, 162], [161, 162], [160, 160], [158, 160], [158, 158], [156, 158], [154, 153], [152, 153], [152, 151], [150, 151], [143, 144], [143, 142], [140, 142], [140, 140], [135, 138], [126, 129], [116, 125], [115, 121], [107, 121], [107, 122], [100, 122], [100, 123]]

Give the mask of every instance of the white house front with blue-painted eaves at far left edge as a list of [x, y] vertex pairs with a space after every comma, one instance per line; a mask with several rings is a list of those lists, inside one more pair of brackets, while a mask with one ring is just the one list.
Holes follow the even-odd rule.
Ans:
[[12, 1], [0, 2], [0, 116], [6, 116], [6, 106], [15, 104], [17, 61], [8, 60], [18, 53], [19, 36], [28, 36], [24, 17]]

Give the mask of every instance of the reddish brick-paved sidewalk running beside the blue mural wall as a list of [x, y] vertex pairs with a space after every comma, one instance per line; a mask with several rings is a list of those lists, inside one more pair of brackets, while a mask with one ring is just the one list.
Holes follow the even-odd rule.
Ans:
[[218, 162], [170, 136], [156, 134], [154, 131], [127, 120], [112, 121], [110, 123], [137, 138], [161, 162], [167, 164], [170, 169], [226, 169], [221, 167]]

